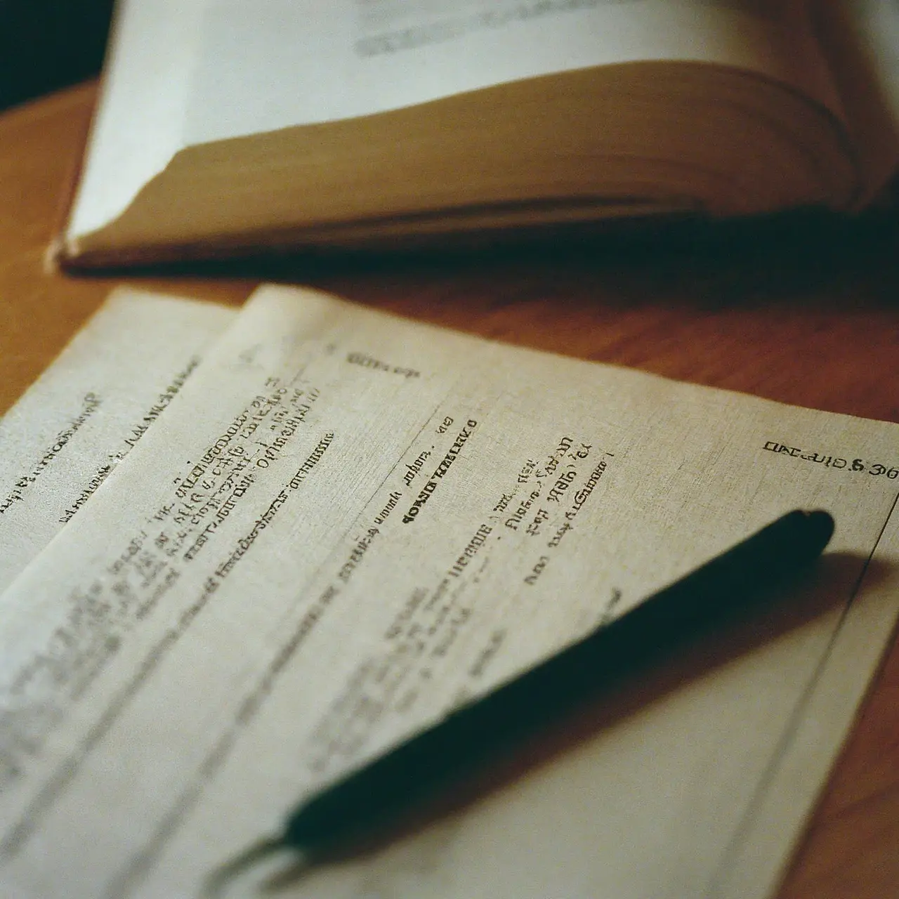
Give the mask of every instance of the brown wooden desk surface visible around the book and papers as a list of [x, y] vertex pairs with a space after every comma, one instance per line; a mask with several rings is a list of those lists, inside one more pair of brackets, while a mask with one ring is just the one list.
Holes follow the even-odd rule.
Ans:
[[[115, 280], [47, 274], [42, 257], [93, 102], [85, 85], [0, 116], [0, 411]], [[899, 230], [849, 247], [521, 253], [305, 274], [440, 325], [798, 405], [899, 422]], [[796, 256], [800, 258], [795, 258]], [[239, 270], [232, 270], [239, 271]], [[251, 276], [140, 280], [238, 304]], [[899, 896], [899, 645], [881, 672], [779, 899]], [[688, 897], [684, 897], [688, 899]]]

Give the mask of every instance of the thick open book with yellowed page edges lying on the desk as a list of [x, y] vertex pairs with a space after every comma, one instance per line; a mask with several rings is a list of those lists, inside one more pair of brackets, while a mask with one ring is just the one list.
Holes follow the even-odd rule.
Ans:
[[122, 0], [70, 267], [857, 209], [890, 0]]

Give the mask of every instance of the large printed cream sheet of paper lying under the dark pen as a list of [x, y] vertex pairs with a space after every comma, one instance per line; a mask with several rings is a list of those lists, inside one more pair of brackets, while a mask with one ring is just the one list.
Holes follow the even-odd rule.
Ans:
[[895, 620], [897, 437], [262, 289], [0, 600], [0, 883], [198, 895], [348, 766], [823, 507], [784, 610], [289, 891], [765, 895]]

